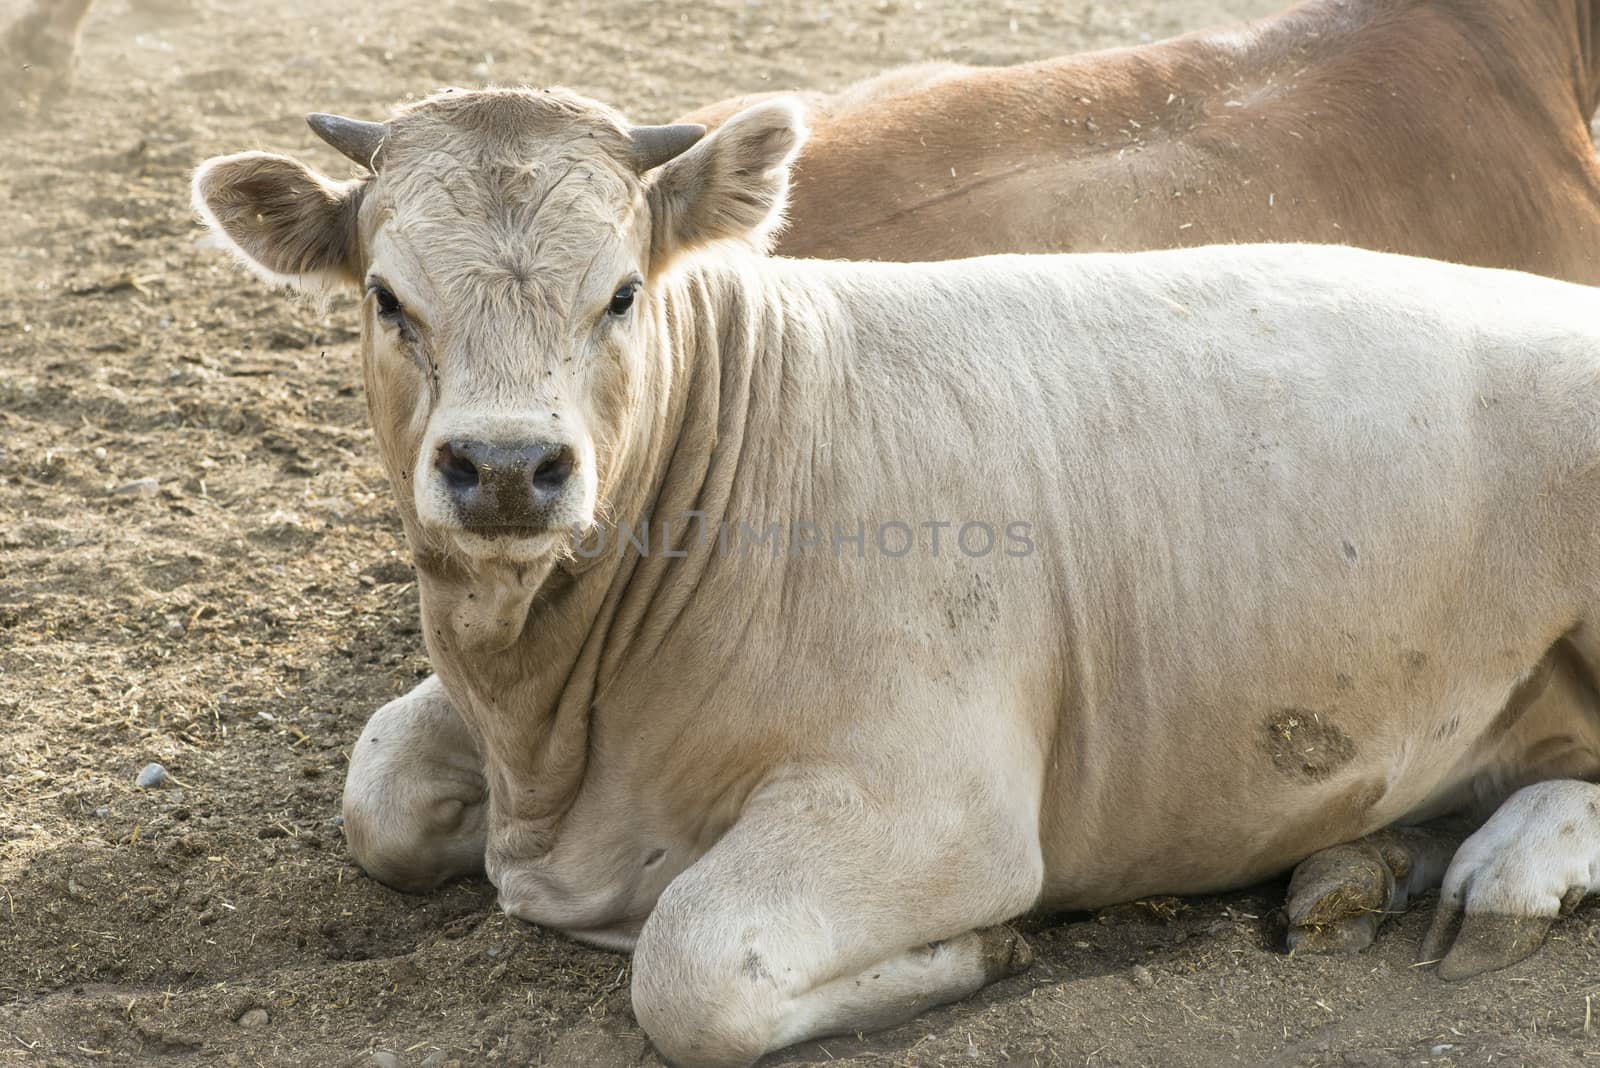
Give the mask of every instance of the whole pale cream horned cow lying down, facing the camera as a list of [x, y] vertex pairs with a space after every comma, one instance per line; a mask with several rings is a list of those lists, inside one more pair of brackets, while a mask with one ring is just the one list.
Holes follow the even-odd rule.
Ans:
[[[222, 157], [195, 203], [366, 293], [438, 675], [360, 739], [352, 849], [630, 948], [674, 1063], [970, 994], [1040, 905], [1304, 862], [1291, 938], [1347, 948], [1443, 878], [1456, 977], [1597, 883], [1600, 294], [1315, 246], [765, 259], [782, 102], [314, 125], [373, 173]], [[1459, 851], [1416, 827], [1534, 782]]]

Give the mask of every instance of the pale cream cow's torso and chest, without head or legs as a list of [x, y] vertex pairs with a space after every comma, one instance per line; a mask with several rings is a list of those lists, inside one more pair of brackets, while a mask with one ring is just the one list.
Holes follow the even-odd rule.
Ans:
[[[549, 852], [491, 841], [526, 919], [630, 945], [754, 795], [819, 769], [901, 819], [1003, 811], [1045, 905], [1240, 886], [1525, 774], [1496, 737], [1514, 689], [1563, 638], [1600, 664], [1586, 289], [1219, 248], [749, 262], [667, 299], [717, 323], [675, 339], [715, 373], [691, 374], [701, 414], [674, 452], [693, 460], [661, 472], [653, 553], [597, 555], [482, 654], [461, 638], [483, 624], [451, 620], [491, 593], [421, 569], [432, 662], [469, 723], [507, 691], [539, 694], [518, 737], [594, 708], [571, 724], [587, 764], [523, 785], [573, 785], [522, 814]], [[866, 556], [835, 556], [829, 526], [858, 518]], [[806, 520], [824, 544], [779, 558], [739, 529]], [[893, 558], [877, 531], [894, 520], [952, 526], [938, 556], [925, 528]], [[955, 545], [963, 521], [997, 531], [992, 553]], [[1013, 556], [998, 532], [1018, 521], [1034, 552]], [[602, 603], [624, 611], [576, 608]], [[1597, 740], [1600, 723], [1544, 756], [1592, 772]], [[491, 767], [517, 759], [491, 747]], [[968, 831], [952, 863], [1006, 838]]]

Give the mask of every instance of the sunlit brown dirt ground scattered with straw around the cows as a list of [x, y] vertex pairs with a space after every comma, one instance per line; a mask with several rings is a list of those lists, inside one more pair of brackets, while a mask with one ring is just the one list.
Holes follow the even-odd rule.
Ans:
[[[0, 1063], [661, 1063], [626, 958], [507, 919], [483, 881], [406, 897], [350, 863], [346, 753], [427, 673], [416, 590], [350, 305], [320, 317], [198, 248], [198, 160], [342, 174], [304, 112], [440, 85], [560, 82], [666, 122], [1278, 2], [106, 0], [59, 102], [19, 112], [0, 82]], [[134, 785], [149, 761], [166, 785]], [[1029, 919], [1030, 974], [776, 1060], [1600, 1058], [1600, 908], [1451, 986], [1413, 967], [1430, 902], [1370, 953], [1291, 959], [1282, 892]]]

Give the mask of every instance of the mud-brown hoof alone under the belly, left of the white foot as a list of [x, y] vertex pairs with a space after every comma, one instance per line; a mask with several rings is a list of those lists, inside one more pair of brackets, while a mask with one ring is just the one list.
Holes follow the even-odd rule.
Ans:
[[1290, 953], [1358, 953], [1403, 905], [1410, 857], [1373, 838], [1315, 852], [1294, 868], [1285, 907]]

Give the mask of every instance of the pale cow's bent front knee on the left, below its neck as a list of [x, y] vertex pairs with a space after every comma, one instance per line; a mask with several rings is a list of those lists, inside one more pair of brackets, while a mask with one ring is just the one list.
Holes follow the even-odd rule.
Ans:
[[366, 721], [344, 779], [344, 838], [379, 883], [419, 894], [483, 870], [483, 759], [429, 678]]

